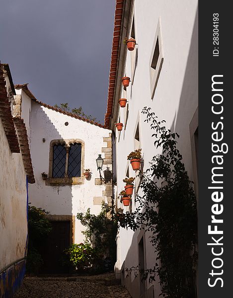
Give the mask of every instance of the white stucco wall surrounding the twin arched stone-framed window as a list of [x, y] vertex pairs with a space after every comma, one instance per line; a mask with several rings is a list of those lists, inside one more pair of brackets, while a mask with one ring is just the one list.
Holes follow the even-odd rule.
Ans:
[[[65, 122], [69, 125], [65, 126]], [[38, 103], [32, 102], [31, 116], [31, 157], [36, 183], [30, 185], [29, 194], [32, 205], [49, 211], [52, 215], [74, 215], [86, 212], [98, 214], [100, 205], [93, 205], [93, 197], [102, 197], [104, 185], [95, 185], [95, 178], [99, 178], [96, 158], [102, 147], [104, 137], [109, 137], [110, 130], [106, 130], [73, 117], [64, 115]], [[45, 139], [43, 143], [42, 139]], [[80, 139], [84, 142], [84, 169], [89, 168], [92, 175], [90, 180], [84, 179], [80, 185], [46, 186], [41, 177], [42, 172], [49, 172], [49, 150], [52, 140]], [[82, 152], [83, 153], [83, 152]], [[103, 170], [106, 166], [103, 166]], [[111, 170], [111, 169], [110, 169]], [[106, 197], [103, 197], [106, 201]], [[106, 201], [107, 202], [107, 201]], [[76, 220], [75, 242], [83, 241], [81, 233], [83, 227]]]

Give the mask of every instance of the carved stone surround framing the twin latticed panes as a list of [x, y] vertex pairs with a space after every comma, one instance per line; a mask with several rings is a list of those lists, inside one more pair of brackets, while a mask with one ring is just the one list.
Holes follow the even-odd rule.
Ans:
[[[71, 144], [81, 144], [81, 176], [80, 177], [62, 177], [53, 178], [53, 147], [56, 144], [65, 144], [66, 147], [70, 147]], [[85, 143], [80, 139], [58, 139], [52, 140], [49, 147], [49, 175], [46, 179], [46, 185], [77, 185], [84, 183], [84, 156], [85, 156]]]

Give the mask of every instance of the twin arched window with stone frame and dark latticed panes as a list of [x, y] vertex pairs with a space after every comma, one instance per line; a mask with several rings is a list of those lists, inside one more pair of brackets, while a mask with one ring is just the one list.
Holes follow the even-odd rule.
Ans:
[[78, 139], [53, 140], [47, 185], [83, 183], [84, 142]]

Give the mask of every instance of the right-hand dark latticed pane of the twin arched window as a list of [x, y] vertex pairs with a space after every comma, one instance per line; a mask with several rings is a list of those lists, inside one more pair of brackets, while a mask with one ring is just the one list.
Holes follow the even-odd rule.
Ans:
[[68, 177], [81, 176], [81, 144], [72, 144], [69, 152]]

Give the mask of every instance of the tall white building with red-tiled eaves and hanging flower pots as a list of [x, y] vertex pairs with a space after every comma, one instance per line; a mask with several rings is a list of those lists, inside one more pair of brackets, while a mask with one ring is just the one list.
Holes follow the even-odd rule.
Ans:
[[[116, 146], [117, 187], [115, 198], [124, 190], [123, 179], [135, 177], [127, 155], [142, 149], [144, 169], [160, 151], [154, 147], [153, 132], [141, 113], [151, 107], [166, 127], [180, 135], [178, 149], [197, 195], [198, 141], [198, 27], [197, 0], [117, 0], [109, 77], [109, 91], [105, 126], [114, 131]], [[128, 51], [125, 38], [133, 37], [136, 46]], [[123, 88], [121, 78], [130, 77]], [[118, 100], [126, 98], [125, 108]], [[117, 131], [116, 123], [123, 123]], [[130, 207], [116, 199], [117, 207], [134, 211], [135, 194], [140, 179], [136, 177], [135, 193]], [[143, 264], [155, 266], [155, 252], [143, 230], [134, 232], [120, 228], [117, 236], [116, 276], [121, 277], [133, 298], [157, 298], [160, 285], [156, 281], [141, 282], [134, 274], [126, 277], [125, 268]]]

